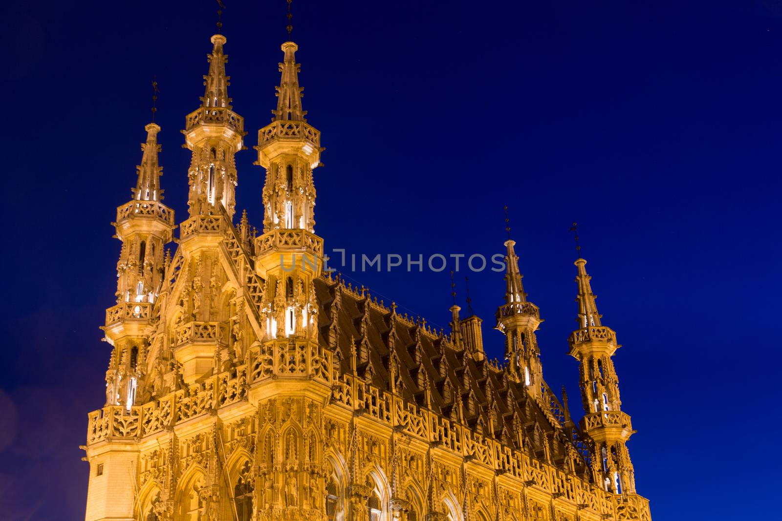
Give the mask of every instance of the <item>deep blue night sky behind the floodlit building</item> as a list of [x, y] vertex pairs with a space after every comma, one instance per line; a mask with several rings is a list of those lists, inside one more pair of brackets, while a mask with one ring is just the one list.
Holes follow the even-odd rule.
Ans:
[[[2, 20], [0, 517], [83, 519], [87, 412], [102, 406], [117, 205], [157, 74], [166, 203], [199, 105], [214, 2], [7, 2]], [[268, 123], [285, 2], [226, 0], [229, 94]], [[573, 219], [624, 347], [622, 409], [654, 519], [776, 519], [780, 451], [782, 0], [294, 0], [304, 109], [322, 132], [327, 251], [503, 251], [503, 205], [543, 376], [580, 415]], [[260, 226], [264, 171], [237, 156]], [[452, 267], [452, 266], [450, 266]], [[463, 268], [464, 266], [462, 266]], [[470, 276], [490, 355], [499, 273]], [[347, 273], [445, 326], [447, 272]], [[733, 497], [735, 494], [735, 498]], [[740, 499], [750, 499], [743, 505]]]

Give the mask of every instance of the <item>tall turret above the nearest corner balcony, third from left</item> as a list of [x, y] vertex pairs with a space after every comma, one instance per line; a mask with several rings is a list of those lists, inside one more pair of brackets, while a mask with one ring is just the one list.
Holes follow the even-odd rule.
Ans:
[[298, 46], [282, 44], [277, 109], [258, 130], [258, 160], [266, 169], [264, 234], [256, 239], [256, 269], [266, 280], [265, 339], [317, 341], [313, 280], [321, 273], [323, 240], [314, 234], [315, 187], [321, 134], [304, 119], [296, 63]]

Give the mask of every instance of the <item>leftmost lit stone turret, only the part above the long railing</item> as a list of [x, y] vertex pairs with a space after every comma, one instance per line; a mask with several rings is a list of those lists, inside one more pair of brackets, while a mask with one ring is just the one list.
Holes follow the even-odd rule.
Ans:
[[117, 208], [116, 237], [122, 241], [117, 262], [117, 304], [106, 310], [106, 341], [113, 353], [106, 373], [106, 404], [127, 405], [135, 401], [139, 360], [152, 333], [152, 305], [163, 280], [163, 246], [171, 241], [174, 210], [163, 205], [160, 189], [157, 134], [160, 127], [145, 127], [142, 164], [130, 202]]

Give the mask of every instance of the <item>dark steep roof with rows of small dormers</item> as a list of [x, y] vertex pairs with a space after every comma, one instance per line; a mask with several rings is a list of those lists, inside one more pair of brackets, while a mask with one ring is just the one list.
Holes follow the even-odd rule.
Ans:
[[476, 361], [465, 349], [458, 349], [450, 335], [436, 333], [421, 319], [397, 314], [394, 306], [389, 309], [370, 298], [363, 288], [355, 290], [321, 277], [315, 291], [320, 302], [320, 341], [335, 351], [342, 373], [353, 372], [354, 349], [357, 376], [391, 391], [395, 363], [394, 390], [404, 399], [504, 444], [522, 448], [518, 447], [521, 438], [524, 448], [539, 459], [544, 458], [547, 439], [554, 463], [567, 466], [570, 454], [576, 472], [586, 468], [586, 451], [573, 450], [583, 449], [579, 447], [583, 437], [545, 384], [544, 398], [533, 398], [523, 384], [508, 378], [502, 366], [486, 359]]

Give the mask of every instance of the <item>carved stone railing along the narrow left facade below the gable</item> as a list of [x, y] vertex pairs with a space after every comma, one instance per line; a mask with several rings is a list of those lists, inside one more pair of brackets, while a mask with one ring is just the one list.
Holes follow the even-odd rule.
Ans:
[[179, 390], [157, 401], [134, 405], [128, 410], [121, 405], [106, 405], [88, 415], [87, 443], [104, 440], [138, 439], [155, 434], [168, 426], [209, 414], [237, 401], [247, 399], [247, 366], [237, 366], [231, 372], [210, 376], [188, 391]]

